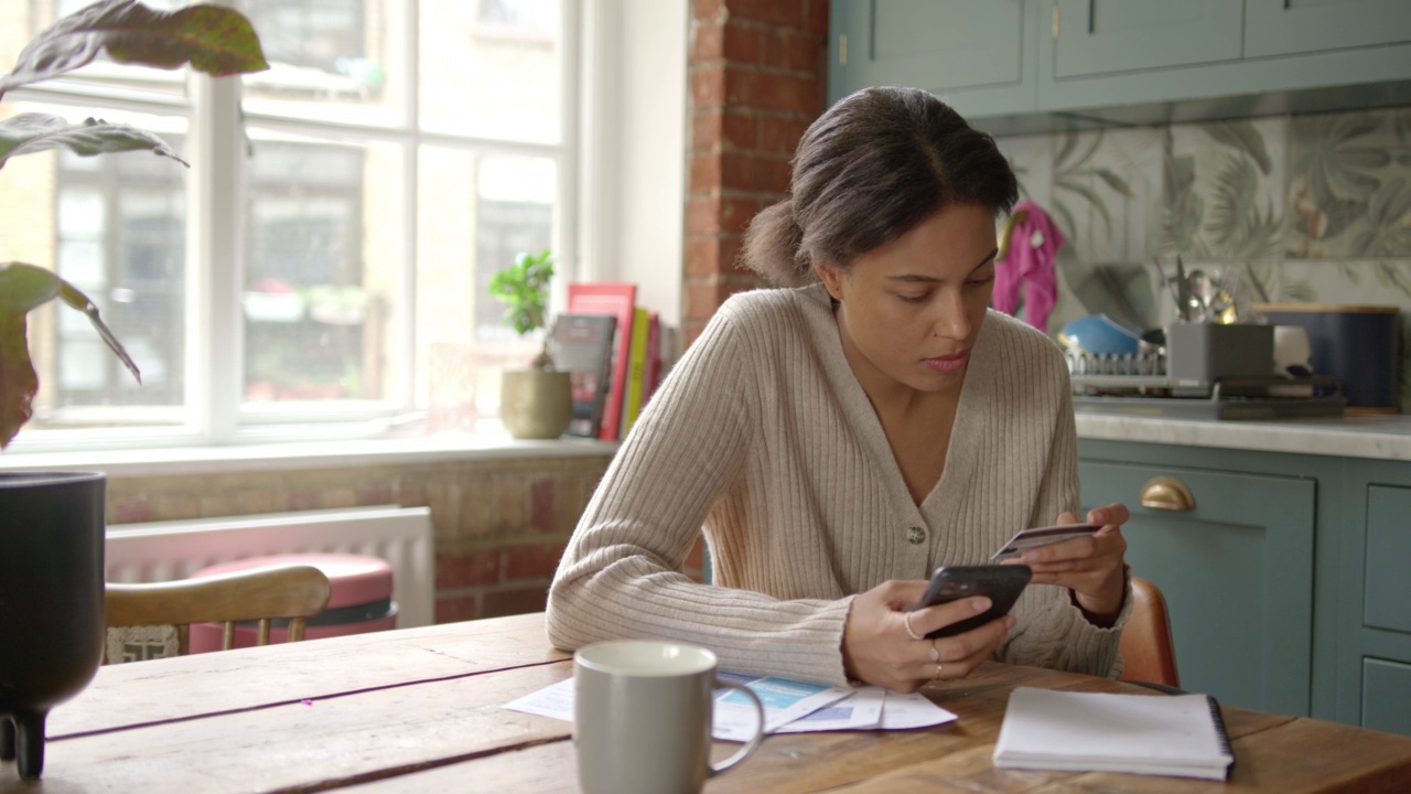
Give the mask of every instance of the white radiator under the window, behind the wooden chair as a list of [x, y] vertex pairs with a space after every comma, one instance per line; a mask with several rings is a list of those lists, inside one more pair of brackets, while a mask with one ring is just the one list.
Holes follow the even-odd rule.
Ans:
[[396, 626], [435, 622], [435, 550], [426, 507], [350, 507], [189, 521], [113, 524], [107, 581], [183, 579], [214, 565], [267, 554], [333, 552], [381, 557], [392, 565]]

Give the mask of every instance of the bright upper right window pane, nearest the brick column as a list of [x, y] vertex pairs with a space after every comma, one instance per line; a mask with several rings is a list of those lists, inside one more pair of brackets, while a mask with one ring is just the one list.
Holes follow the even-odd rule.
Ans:
[[557, 143], [562, 0], [422, 0], [422, 124]]

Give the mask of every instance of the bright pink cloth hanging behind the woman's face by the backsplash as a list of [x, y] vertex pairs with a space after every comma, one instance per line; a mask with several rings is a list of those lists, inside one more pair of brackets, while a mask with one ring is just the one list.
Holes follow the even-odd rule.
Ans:
[[[1024, 290], [1024, 322], [1038, 331], [1048, 331], [1048, 314], [1058, 300], [1058, 281], [1054, 274], [1054, 259], [1064, 237], [1054, 226], [1048, 213], [1031, 201], [1015, 205], [1027, 216], [1015, 223], [1009, 237], [1009, 256], [995, 263], [995, 309], [1013, 315], [1019, 307], [1019, 288]], [[1043, 242], [1033, 244], [1034, 232], [1043, 235]]]

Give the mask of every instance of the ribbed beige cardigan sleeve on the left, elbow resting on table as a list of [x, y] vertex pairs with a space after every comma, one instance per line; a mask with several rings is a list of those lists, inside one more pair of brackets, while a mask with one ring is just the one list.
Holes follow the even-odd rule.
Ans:
[[845, 682], [851, 598], [782, 600], [693, 582], [682, 562], [752, 444], [758, 350], [766, 339], [729, 304], [652, 397], [583, 514], [549, 591], [547, 632], [564, 650], [670, 639], [721, 668]]

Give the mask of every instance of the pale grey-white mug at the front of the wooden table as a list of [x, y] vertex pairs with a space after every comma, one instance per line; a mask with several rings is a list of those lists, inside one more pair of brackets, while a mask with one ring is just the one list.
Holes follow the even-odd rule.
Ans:
[[[735, 754], [710, 763], [717, 688], [755, 704], [759, 729]], [[749, 757], [765, 706], [748, 688], [715, 678], [715, 654], [670, 641], [622, 640], [573, 654], [573, 745], [584, 794], [697, 794]]]

